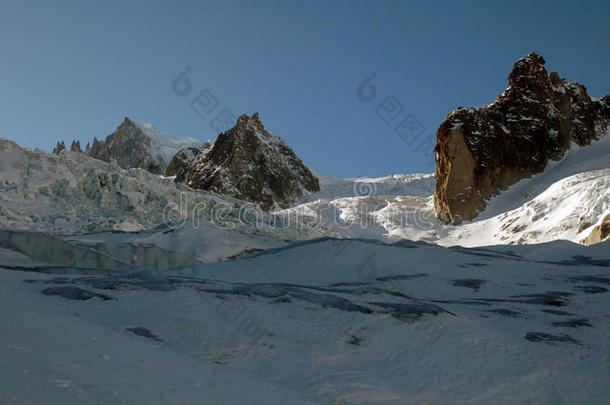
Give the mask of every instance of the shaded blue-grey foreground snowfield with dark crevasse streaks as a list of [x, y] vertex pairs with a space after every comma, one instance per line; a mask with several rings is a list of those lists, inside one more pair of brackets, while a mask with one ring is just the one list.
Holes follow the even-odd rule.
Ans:
[[604, 403], [608, 247], [322, 239], [163, 273], [0, 270], [1, 401]]

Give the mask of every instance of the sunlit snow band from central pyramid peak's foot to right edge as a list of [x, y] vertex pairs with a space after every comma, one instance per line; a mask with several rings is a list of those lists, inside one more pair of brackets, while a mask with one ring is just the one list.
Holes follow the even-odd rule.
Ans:
[[513, 185], [476, 220], [460, 226], [436, 219], [431, 175], [321, 177], [320, 184], [319, 193], [280, 212], [315, 218], [319, 236], [426, 240], [444, 246], [581, 242], [610, 214], [610, 136], [572, 147], [544, 173]]

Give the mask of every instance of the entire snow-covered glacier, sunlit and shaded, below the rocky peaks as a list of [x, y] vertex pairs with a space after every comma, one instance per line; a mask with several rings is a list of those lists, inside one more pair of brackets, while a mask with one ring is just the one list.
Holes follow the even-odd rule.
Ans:
[[263, 212], [0, 140], [1, 401], [603, 403], [609, 146], [454, 226], [426, 174]]

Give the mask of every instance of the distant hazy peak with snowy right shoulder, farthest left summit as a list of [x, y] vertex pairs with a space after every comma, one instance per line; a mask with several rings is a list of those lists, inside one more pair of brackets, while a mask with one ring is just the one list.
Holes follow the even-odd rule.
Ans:
[[[92, 145], [87, 144], [84, 152], [96, 159], [114, 162], [124, 169], [138, 167], [153, 174], [163, 174], [177, 151], [201, 146], [202, 142], [196, 139], [172, 138], [151, 124], [140, 124], [125, 117], [105, 140], [95, 138]], [[64, 142], [58, 142], [53, 152], [59, 153], [64, 149]], [[80, 152], [80, 143], [73, 142], [70, 149]]]

